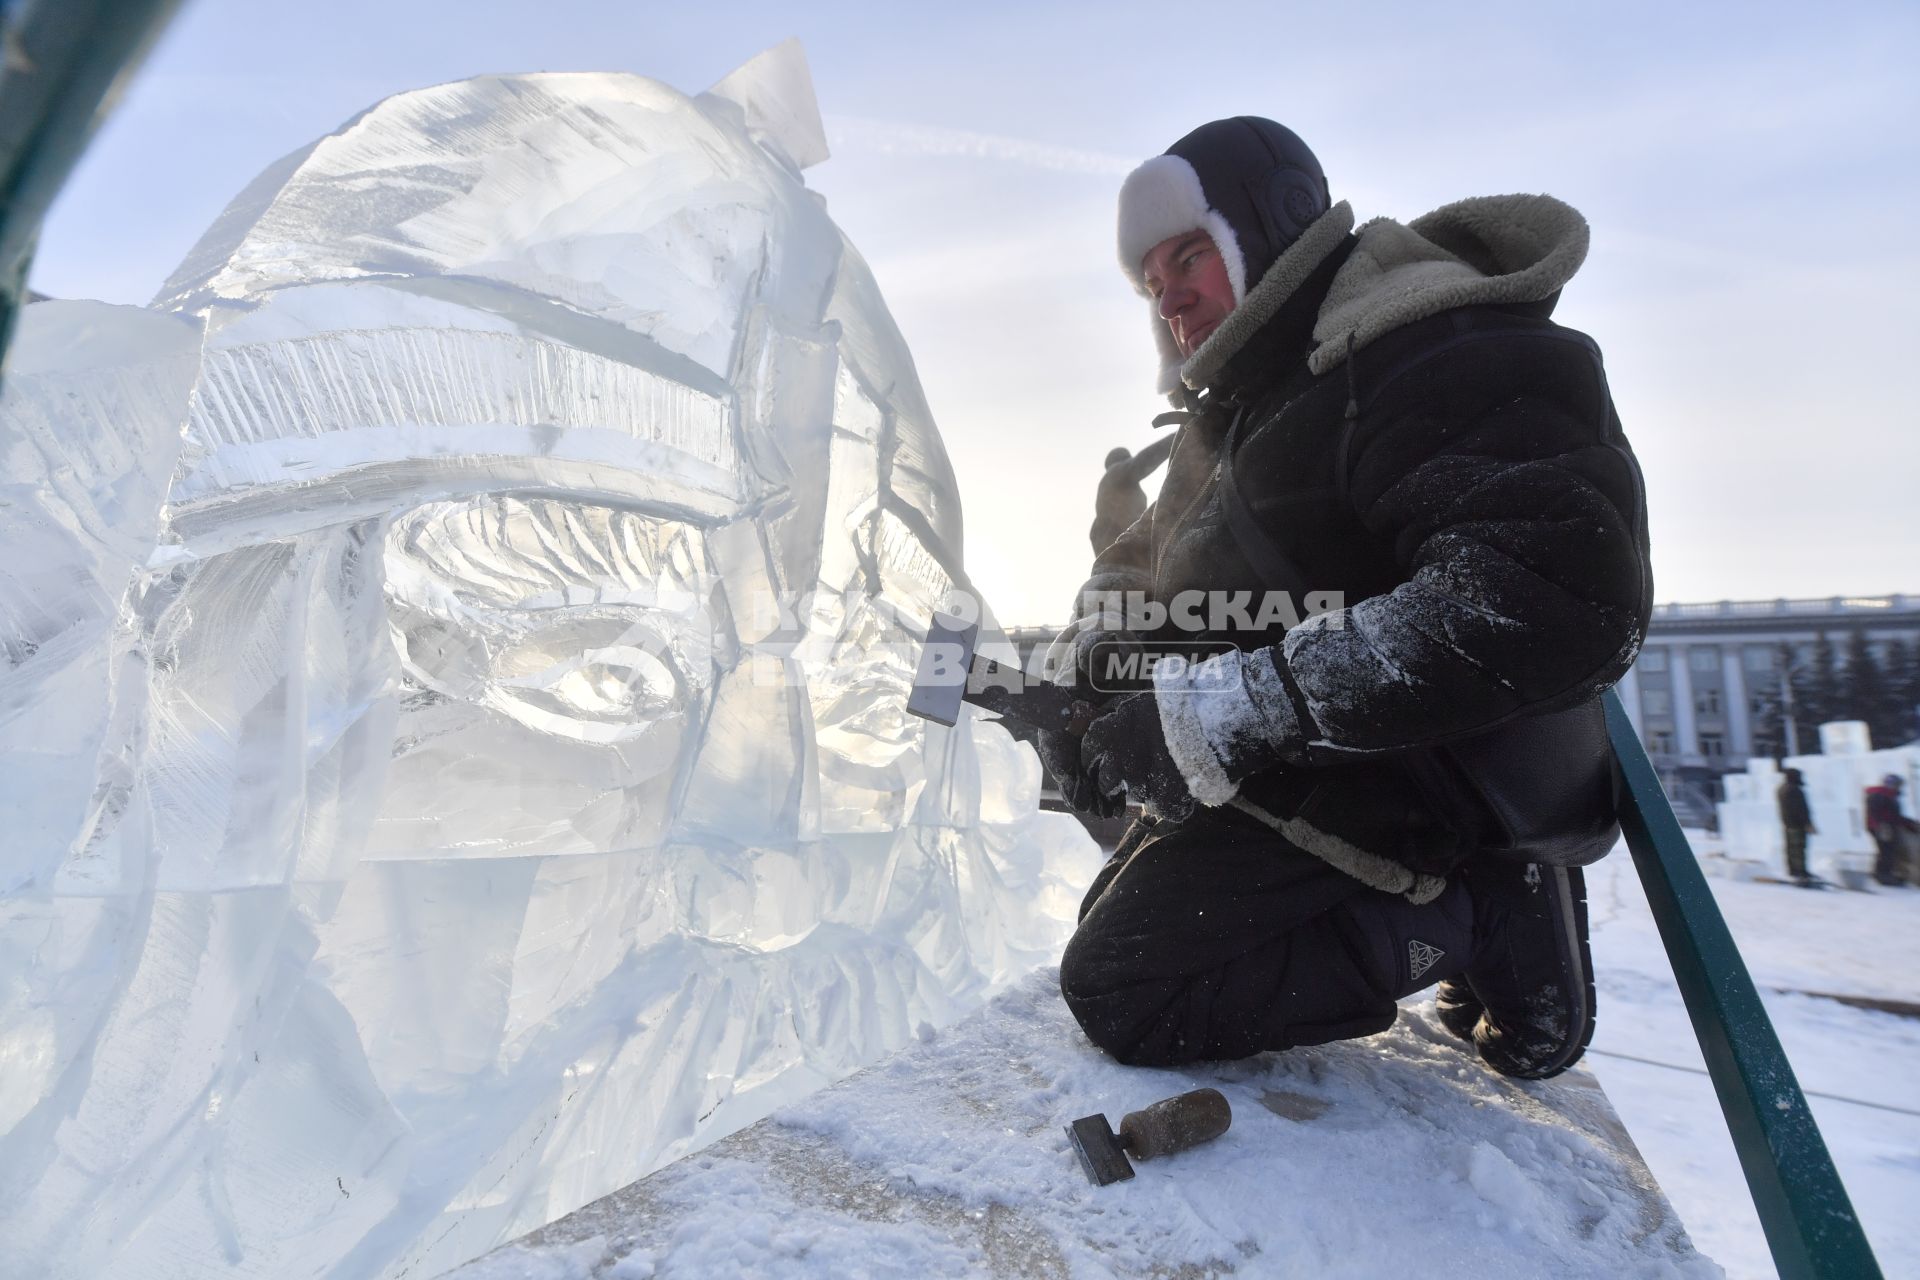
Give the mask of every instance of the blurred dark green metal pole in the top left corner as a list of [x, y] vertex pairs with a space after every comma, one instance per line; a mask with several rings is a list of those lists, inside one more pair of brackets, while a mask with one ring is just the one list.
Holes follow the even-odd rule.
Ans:
[[40, 219], [180, 0], [0, 0], [0, 365]]

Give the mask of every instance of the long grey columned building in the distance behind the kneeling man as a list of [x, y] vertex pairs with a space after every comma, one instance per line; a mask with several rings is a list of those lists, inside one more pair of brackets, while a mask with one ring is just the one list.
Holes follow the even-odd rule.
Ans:
[[[1058, 629], [1012, 628], [1008, 639], [1027, 660]], [[1620, 700], [1682, 821], [1711, 823], [1720, 779], [1747, 768], [1757, 720], [1780, 697], [1780, 647], [1788, 645], [1805, 668], [1822, 631], [1841, 660], [1853, 633], [1866, 631], [1868, 647], [1885, 662], [1891, 645], [1920, 635], [1920, 595], [1653, 606], [1647, 643], [1620, 681]], [[1799, 733], [1801, 750], [1812, 750], [1816, 727], [1803, 723]]]

